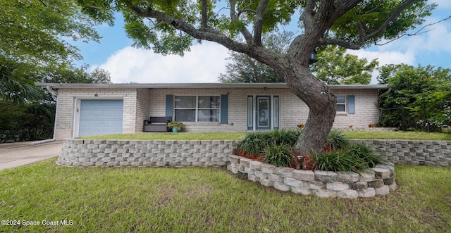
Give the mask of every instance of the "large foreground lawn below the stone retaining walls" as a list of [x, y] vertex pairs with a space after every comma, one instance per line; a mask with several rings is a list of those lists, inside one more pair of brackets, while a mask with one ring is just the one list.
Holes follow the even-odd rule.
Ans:
[[0, 171], [0, 232], [450, 232], [451, 168], [396, 165], [398, 189], [319, 199], [240, 180], [224, 168], [66, 168], [46, 160]]

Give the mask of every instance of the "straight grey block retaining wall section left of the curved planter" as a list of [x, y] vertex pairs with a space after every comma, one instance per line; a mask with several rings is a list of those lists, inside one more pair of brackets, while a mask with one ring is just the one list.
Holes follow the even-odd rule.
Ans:
[[235, 141], [66, 139], [56, 160], [75, 167], [224, 166]]

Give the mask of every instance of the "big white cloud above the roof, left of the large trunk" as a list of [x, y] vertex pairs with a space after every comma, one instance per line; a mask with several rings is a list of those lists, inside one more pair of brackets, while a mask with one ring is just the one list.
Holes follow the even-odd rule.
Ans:
[[111, 73], [113, 83], [218, 82], [226, 70], [228, 49], [212, 42], [191, 47], [185, 56], [162, 56], [130, 46], [116, 51], [99, 68]]

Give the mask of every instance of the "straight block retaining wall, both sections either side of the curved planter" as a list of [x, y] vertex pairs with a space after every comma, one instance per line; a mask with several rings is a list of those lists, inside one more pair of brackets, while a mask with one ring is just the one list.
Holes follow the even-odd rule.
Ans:
[[[451, 141], [352, 140], [369, 144], [390, 163], [451, 166]], [[223, 166], [233, 140], [66, 139], [56, 163], [68, 166]]]

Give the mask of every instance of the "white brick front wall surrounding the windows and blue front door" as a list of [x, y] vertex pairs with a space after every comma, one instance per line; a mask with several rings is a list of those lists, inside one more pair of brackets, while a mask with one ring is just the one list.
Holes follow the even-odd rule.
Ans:
[[[355, 113], [338, 113], [334, 128], [368, 128], [379, 120], [377, 90], [334, 90], [337, 96], [355, 96]], [[274, 95], [280, 100], [280, 128], [295, 129], [305, 123], [309, 114], [307, 105], [289, 89], [151, 89], [150, 115], [163, 116], [166, 111], [166, 95], [220, 95], [228, 94], [228, 125], [211, 122], [186, 122], [186, 132], [240, 132], [247, 131], [247, 96]], [[348, 107], [348, 106], [347, 106]], [[233, 124], [233, 125], [231, 125]]]

